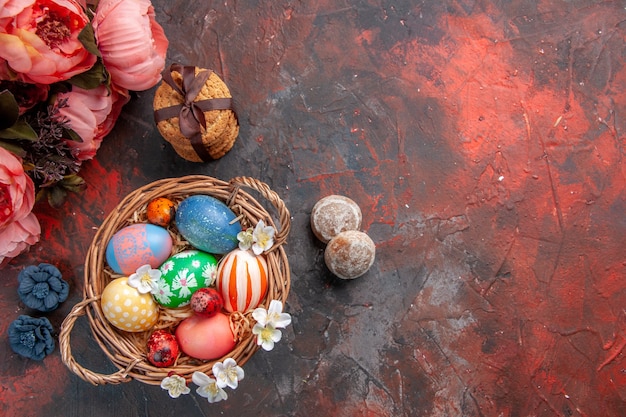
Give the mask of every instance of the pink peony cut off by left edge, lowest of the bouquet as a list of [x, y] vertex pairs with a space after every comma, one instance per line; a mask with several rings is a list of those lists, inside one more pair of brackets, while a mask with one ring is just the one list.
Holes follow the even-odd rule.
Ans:
[[15, 155], [0, 148], [0, 265], [39, 241], [41, 226], [31, 212], [35, 185]]

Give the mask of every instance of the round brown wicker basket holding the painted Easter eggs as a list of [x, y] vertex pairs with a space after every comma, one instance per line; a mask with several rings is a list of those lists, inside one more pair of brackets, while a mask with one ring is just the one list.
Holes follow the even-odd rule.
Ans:
[[[242, 187], [255, 190], [274, 206], [276, 209], [274, 215], [277, 217], [279, 227], [276, 227], [272, 215], [252, 195], [242, 190]], [[103, 315], [100, 297], [104, 287], [115, 277], [105, 262], [106, 245], [111, 237], [125, 226], [144, 221], [146, 206], [152, 199], [168, 197], [176, 202], [193, 194], [211, 195], [225, 202], [240, 217], [243, 228], [254, 226], [259, 220], [263, 220], [265, 224], [276, 229], [274, 246], [265, 254], [268, 264], [269, 289], [261, 305], [268, 308], [269, 302], [273, 299], [280, 300], [283, 304], [286, 302], [291, 279], [283, 243], [289, 233], [291, 220], [289, 211], [274, 191], [263, 182], [248, 177], [237, 177], [230, 182], [224, 182], [207, 176], [192, 175], [153, 182], [133, 191], [120, 202], [98, 229], [87, 252], [84, 299], [72, 308], [63, 321], [59, 333], [63, 362], [81, 379], [93, 385], [119, 384], [132, 379], [150, 385], [159, 385], [163, 378], [173, 371], [190, 380], [195, 371], [212, 375], [213, 364], [227, 357], [243, 365], [258, 350], [259, 346], [251, 332], [253, 325], [251, 313], [240, 314], [236, 320], [233, 320], [233, 315], [231, 315], [231, 326], [238, 342], [230, 353], [213, 361], [201, 361], [181, 354], [173, 367], [158, 368], [146, 358], [146, 343], [150, 331], [141, 333], [118, 331]], [[170, 233], [174, 236], [175, 242], [173, 252], [189, 247], [185, 246], [186, 242], [177, 234], [175, 227], [170, 227]], [[172, 330], [180, 320], [191, 314], [189, 307], [161, 308], [159, 322], [155, 328]], [[87, 316], [94, 339], [118, 368], [117, 372], [113, 374], [93, 372], [78, 364], [72, 356], [70, 334], [76, 320], [83, 315]]]

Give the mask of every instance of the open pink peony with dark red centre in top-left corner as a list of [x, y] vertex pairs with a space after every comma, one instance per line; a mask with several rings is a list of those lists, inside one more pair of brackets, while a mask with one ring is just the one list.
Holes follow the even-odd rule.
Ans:
[[75, 0], [0, 0], [0, 76], [51, 84], [96, 62], [78, 40], [89, 19]]

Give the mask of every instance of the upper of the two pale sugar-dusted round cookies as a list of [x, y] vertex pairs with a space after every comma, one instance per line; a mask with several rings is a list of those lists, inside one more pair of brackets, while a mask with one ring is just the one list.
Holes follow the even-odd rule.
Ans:
[[347, 230], [358, 230], [363, 215], [361, 208], [350, 198], [329, 195], [319, 200], [311, 211], [311, 229], [322, 242]]

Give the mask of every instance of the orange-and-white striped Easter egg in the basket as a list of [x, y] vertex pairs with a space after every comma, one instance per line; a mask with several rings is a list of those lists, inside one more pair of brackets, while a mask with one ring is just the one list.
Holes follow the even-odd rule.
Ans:
[[227, 311], [245, 313], [256, 308], [267, 294], [265, 258], [241, 249], [229, 252], [217, 267], [215, 286]]

